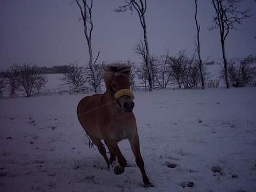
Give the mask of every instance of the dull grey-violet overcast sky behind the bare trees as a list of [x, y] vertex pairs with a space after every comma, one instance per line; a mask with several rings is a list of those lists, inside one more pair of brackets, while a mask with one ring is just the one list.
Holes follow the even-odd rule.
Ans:
[[[0, 1], [0, 69], [14, 63], [39, 66], [88, 63], [88, 48], [77, 5], [72, 0], [1, 0]], [[143, 38], [136, 12], [114, 13], [124, 1], [94, 0], [92, 48], [100, 50], [99, 62], [130, 59], [139, 62], [133, 46]], [[229, 58], [256, 55], [256, 1], [245, 0], [251, 18], [226, 40]], [[221, 58], [218, 29], [209, 31], [214, 9], [210, 0], [199, 0], [202, 57]], [[175, 55], [179, 50], [193, 53], [196, 37], [193, 0], [148, 0], [146, 22], [150, 53], [159, 55], [167, 48]]]

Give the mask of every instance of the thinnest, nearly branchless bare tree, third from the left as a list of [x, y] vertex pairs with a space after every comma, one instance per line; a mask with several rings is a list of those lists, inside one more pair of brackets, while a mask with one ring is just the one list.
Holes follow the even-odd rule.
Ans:
[[200, 77], [201, 77], [201, 86], [202, 89], [205, 89], [205, 77], [203, 72], [203, 62], [201, 59], [201, 48], [200, 48], [200, 25], [197, 22], [197, 0], [195, 0], [195, 22], [196, 22], [196, 30], [197, 30], [197, 38], [196, 38], [196, 52], [197, 57], [199, 59], [199, 70], [200, 70]]

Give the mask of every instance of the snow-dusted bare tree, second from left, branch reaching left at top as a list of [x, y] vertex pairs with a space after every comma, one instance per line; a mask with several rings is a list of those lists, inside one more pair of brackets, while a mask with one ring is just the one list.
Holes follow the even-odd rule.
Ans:
[[146, 49], [145, 52], [145, 64], [148, 71], [148, 79], [149, 79], [149, 91], [153, 91], [153, 72], [152, 67], [149, 63], [149, 46], [148, 46], [148, 37], [147, 37], [147, 26], [146, 26], [146, 16], [145, 13], [147, 11], [147, 0], [125, 0], [125, 5], [119, 6], [117, 9], [114, 9], [116, 13], [124, 12], [127, 9], [133, 11], [136, 10], [139, 16], [139, 21], [141, 22], [141, 26], [143, 28], [143, 37], [144, 37], [144, 46]]

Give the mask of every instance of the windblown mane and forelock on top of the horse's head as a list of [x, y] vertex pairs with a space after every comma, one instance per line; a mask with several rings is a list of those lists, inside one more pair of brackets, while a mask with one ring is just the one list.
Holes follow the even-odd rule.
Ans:
[[124, 77], [131, 79], [131, 66], [121, 63], [112, 63], [104, 67], [102, 77], [106, 84], [106, 88], [110, 85], [113, 75], [123, 75]]

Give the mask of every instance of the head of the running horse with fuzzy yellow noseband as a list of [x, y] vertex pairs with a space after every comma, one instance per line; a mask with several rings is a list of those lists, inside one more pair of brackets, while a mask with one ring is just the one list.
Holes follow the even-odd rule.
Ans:
[[131, 85], [131, 67], [130, 66], [110, 66], [105, 69], [105, 83], [107, 89], [110, 89], [120, 107], [126, 112], [132, 112], [134, 107], [134, 96], [130, 90]]

